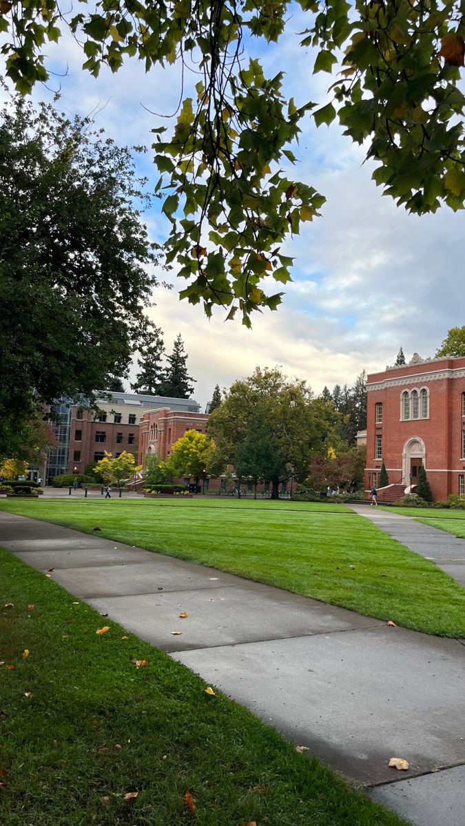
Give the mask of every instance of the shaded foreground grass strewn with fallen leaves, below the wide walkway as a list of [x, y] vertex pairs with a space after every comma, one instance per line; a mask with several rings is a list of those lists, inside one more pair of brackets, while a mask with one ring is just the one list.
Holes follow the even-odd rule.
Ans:
[[0, 567], [2, 826], [406, 826], [2, 548]]

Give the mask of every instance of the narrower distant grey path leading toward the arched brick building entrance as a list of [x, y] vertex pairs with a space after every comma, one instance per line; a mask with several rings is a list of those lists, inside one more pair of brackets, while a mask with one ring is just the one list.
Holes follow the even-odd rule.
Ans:
[[[445, 530], [433, 528], [431, 525], [424, 525], [415, 520], [415, 508], [412, 508], [411, 516], [403, 516], [390, 510], [380, 510], [367, 505], [348, 505], [348, 507], [355, 513], [365, 516], [378, 528], [386, 531], [386, 534], [390, 534], [393, 539], [397, 539], [398, 542], [410, 548], [410, 551], [419, 553], [425, 559], [430, 559], [448, 573], [449, 577], [453, 577], [465, 587], [465, 539], [459, 539]], [[458, 518], [460, 517], [461, 512], [458, 511]], [[434, 510], [431, 512], [431, 518], [434, 518]], [[465, 815], [463, 824], [465, 824]]]

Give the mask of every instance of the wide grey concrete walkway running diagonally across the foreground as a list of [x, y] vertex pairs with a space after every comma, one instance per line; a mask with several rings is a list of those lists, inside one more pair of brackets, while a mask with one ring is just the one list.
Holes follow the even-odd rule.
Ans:
[[[0, 544], [40, 571], [53, 567], [55, 582], [74, 596], [415, 826], [465, 823], [461, 642], [5, 512]], [[182, 635], [172, 636], [177, 629]], [[409, 771], [387, 767], [390, 757], [405, 757]]]

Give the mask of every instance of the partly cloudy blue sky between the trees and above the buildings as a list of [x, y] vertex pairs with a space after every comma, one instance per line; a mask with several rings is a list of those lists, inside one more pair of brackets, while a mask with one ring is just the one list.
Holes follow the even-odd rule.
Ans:
[[[254, 56], [261, 54], [266, 71], [285, 71], [286, 92], [297, 103], [324, 103], [331, 78], [312, 74], [311, 50], [300, 49], [296, 35], [305, 25], [303, 12], [296, 13], [279, 45], [250, 48]], [[175, 110], [177, 66], [156, 67], [146, 75], [132, 60], [116, 75], [103, 69], [95, 79], [81, 70], [82, 55], [69, 36], [48, 52], [57, 73], [67, 66], [67, 74], [55, 78], [61, 108], [82, 115], [100, 108], [96, 125], [118, 143], [150, 147], [151, 129], [162, 121], [143, 106]], [[46, 88], [34, 93], [36, 100], [50, 97]], [[176, 284], [175, 272], [174, 289], [154, 296], [149, 315], [165, 331], [168, 349], [181, 332], [190, 372], [198, 380], [194, 396], [202, 405], [217, 382], [228, 387], [256, 364], [282, 365], [285, 373], [307, 379], [315, 392], [325, 384], [350, 384], [363, 368], [374, 372], [393, 363], [400, 344], [407, 358], [415, 351], [434, 355], [448, 329], [465, 324], [463, 213], [444, 207], [419, 218], [397, 209], [372, 182], [373, 166], [363, 164], [362, 148], [343, 137], [337, 124], [316, 130], [308, 121], [295, 154], [300, 161], [295, 178], [328, 200], [322, 217], [286, 244], [295, 266], [278, 311], [256, 316], [252, 330], [225, 324], [223, 311], [209, 321], [200, 307], [179, 301], [177, 289], [184, 281]], [[150, 149], [143, 168], [155, 183]], [[146, 219], [152, 239], [165, 240], [168, 225], [159, 208]]]

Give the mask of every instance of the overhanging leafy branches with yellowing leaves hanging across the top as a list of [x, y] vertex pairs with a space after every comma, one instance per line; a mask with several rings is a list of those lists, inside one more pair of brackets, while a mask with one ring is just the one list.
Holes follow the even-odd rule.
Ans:
[[366, 146], [376, 183], [407, 210], [457, 210], [465, 197], [463, 2], [297, 3], [308, 18], [300, 45], [311, 47], [309, 71], [336, 78], [329, 97], [303, 105], [285, 97], [282, 72], [266, 77], [258, 60], [247, 60], [251, 38], [266, 44], [283, 35], [288, 2], [30, 0], [1, 10], [7, 75], [22, 93], [48, 79], [47, 42], [64, 26], [93, 75], [103, 64], [116, 72], [127, 58], [146, 71], [179, 60], [185, 74], [198, 74], [174, 129], [155, 130], [168, 260], [186, 280], [181, 297], [203, 301], [207, 315], [215, 305], [227, 306], [228, 318], [238, 310], [246, 325], [252, 311], [279, 305], [280, 286], [270, 292], [264, 278], [289, 281], [292, 259], [281, 245], [324, 203], [283, 171], [295, 163], [291, 145], [309, 112], [317, 126], [338, 117], [344, 134]]

